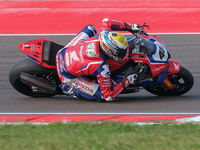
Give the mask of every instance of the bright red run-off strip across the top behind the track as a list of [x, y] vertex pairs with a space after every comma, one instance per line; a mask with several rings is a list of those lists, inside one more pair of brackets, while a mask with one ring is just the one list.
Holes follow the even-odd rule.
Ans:
[[68, 34], [104, 18], [150, 26], [149, 33], [196, 33], [199, 0], [0, 0], [0, 34]]

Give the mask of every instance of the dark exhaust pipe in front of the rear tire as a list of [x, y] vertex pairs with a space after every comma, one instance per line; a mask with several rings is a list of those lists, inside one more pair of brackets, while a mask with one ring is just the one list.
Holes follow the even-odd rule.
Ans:
[[56, 86], [54, 86], [48, 82], [41, 81], [39, 78], [37, 78], [33, 75], [30, 75], [28, 73], [21, 72], [20, 80], [21, 80], [21, 82], [23, 82], [25, 84], [36, 86], [39, 89], [44, 90], [48, 93], [56, 93]]

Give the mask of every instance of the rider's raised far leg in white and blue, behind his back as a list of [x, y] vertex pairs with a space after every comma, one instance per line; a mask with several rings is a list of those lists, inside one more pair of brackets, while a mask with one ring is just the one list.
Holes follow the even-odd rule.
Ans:
[[69, 42], [66, 47], [75, 46], [91, 37], [97, 33], [96, 27], [93, 25], [86, 25], [74, 38]]

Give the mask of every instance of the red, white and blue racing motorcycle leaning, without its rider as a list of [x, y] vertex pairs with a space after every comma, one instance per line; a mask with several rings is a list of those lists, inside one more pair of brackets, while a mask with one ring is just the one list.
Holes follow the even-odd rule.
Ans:
[[[194, 83], [192, 74], [178, 62], [170, 60], [171, 55], [163, 41], [157, 35], [149, 36], [145, 27], [149, 28], [144, 23], [138, 33], [128, 38], [129, 61], [108, 60], [111, 78], [132, 65], [140, 72], [140, 80], [129, 85], [122, 94], [139, 92], [141, 88], [159, 96], [187, 93]], [[55, 61], [56, 53], [63, 47], [44, 38], [20, 44], [19, 49], [28, 59], [17, 62], [11, 68], [9, 81], [13, 88], [31, 97], [63, 95]], [[97, 83], [94, 76], [85, 78]]]

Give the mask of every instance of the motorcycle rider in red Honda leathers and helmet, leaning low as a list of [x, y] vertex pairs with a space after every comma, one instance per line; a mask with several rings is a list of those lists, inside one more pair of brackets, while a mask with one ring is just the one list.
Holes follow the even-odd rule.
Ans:
[[[63, 93], [76, 98], [112, 101], [128, 85], [134, 84], [138, 77], [135, 71], [111, 79], [107, 60], [129, 59], [126, 57], [129, 53], [126, 37], [113, 31], [136, 33], [139, 30], [138, 24], [108, 18], [103, 19], [98, 34], [93, 25], [87, 25], [56, 55], [57, 72], [63, 83]], [[86, 78], [87, 75], [96, 76], [99, 84]]]

